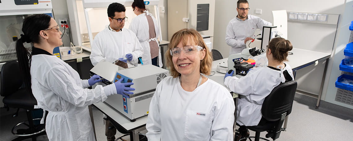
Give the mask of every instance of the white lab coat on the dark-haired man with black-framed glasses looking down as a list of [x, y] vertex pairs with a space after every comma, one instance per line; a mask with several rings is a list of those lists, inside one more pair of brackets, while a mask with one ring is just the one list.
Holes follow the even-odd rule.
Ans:
[[108, 26], [95, 36], [91, 48], [90, 59], [93, 66], [104, 58], [113, 63], [129, 53], [132, 54], [133, 58], [127, 62], [131, 65], [137, 65], [138, 57], [142, 57], [143, 53], [135, 33], [125, 28], [122, 31], [113, 32], [108, 29]]

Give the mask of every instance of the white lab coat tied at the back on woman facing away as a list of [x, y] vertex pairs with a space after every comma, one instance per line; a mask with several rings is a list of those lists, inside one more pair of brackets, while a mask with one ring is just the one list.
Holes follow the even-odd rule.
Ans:
[[[153, 19], [153, 23], [155, 25], [155, 32], [156, 32], [156, 38], [155, 41], [151, 42], [157, 42], [157, 38], [159, 36], [159, 27], [157, 20], [150, 14], [150, 16]], [[142, 55], [142, 62], [143, 65], [145, 64], [152, 64], [151, 61], [151, 52], [150, 52], [150, 44], [148, 43], [148, 40], [150, 39], [150, 34], [149, 34], [149, 26], [148, 26], [148, 21], [146, 18], [146, 13], [139, 14], [137, 17], [132, 19], [132, 22], [129, 26], [129, 29], [134, 32], [143, 48], [143, 55]], [[158, 44], [158, 42], [157, 42]], [[158, 44], [158, 49], [159, 49], [159, 55], [158, 55], [158, 65], [159, 67], [162, 67], [162, 57], [161, 57], [161, 49], [159, 48]]]

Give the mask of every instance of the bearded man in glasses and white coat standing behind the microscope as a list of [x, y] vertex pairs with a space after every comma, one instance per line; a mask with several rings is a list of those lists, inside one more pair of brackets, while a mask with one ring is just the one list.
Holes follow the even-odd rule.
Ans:
[[249, 13], [249, 3], [247, 0], [238, 0], [237, 11], [238, 15], [229, 21], [226, 29], [226, 43], [231, 46], [229, 55], [241, 53], [246, 48], [245, 43], [252, 40], [251, 36], [256, 29], [261, 29], [265, 25], [272, 25], [257, 16]]

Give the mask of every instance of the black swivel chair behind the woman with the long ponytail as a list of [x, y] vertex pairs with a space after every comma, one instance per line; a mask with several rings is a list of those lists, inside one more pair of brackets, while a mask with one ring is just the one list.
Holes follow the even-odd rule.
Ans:
[[[36, 141], [37, 136], [46, 135], [44, 125], [34, 125], [34, 120], [40, 120], [41, 118], [32, 119], [31, 110], [34, 110], [34, 105], [37, 105], [37, 100], [33, 94], [28, 92], [25, 88], [21, 88], [23, 85], [23, 79], [20, 72], [19, 64], [17, 61], [6, 62], [1, 68], [1, 87], [0, 94], [4, 97], [2, 100], [7, 108], [17, 108], [17, 112], [13, 115], [18, 115], [19, 108], [25, 109], [28, 119], [15, 125], [11, 132], [12, 134], [19, 136], [12, 141], [21, 141], [25, 139], [32, 139]], [[16, 129], [19, 125], [25, 125], [27, 129]]]

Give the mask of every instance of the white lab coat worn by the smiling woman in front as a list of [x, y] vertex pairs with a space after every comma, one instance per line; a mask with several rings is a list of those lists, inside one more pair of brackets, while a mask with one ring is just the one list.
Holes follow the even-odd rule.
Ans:
[[157, 85], [146, 123], [149, 141], [233, 141], [234, 100], [229, 91], [208, 79], [185, 91], [179, 77]]

